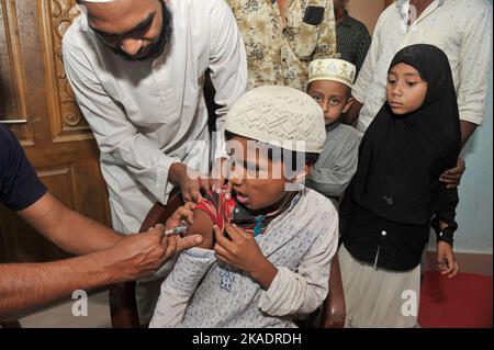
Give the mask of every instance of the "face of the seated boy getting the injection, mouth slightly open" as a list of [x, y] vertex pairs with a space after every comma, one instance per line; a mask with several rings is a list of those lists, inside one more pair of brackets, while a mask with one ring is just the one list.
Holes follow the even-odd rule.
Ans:
[[[270, 213], [278, 210], [290, 195], [290, 192], [285, 191], [285, 184], [290, 180], [285, 179], [281, 159], [269, 159], [267, 151], [252, 147], [256, 144], [259, 143], [239, 136], [228, 140], [229, 181], [235, 190], [236, 200], [244, 206], [250, 211]], [[306, 168], [304, 166], [304, 170]]]

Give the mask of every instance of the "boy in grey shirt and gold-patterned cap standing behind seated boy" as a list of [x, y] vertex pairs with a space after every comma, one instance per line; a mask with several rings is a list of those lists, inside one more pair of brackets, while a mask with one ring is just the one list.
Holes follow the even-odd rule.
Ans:
[[351, 88], [356, 67], [343, 59], [313, 60], [308, 66], [307, 93], [323, 108], [326, 143], [306, 185], [338, 206], [357, 171], [360, 138], [357, 131], [340, 123], [353, 102]]

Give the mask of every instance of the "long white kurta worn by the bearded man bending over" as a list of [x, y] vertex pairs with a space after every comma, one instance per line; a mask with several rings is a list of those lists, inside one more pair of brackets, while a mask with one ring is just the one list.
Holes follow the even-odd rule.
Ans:
[[88, 26], [86, 14], [75, 20], [63, 41], [67, 77], [101, 150], [113, 227], [123, 233], [137, 232], [153, 204], [167, 202], [173, 162], [207, 170], [205, 70], [211, 68], [215, 101], [222, 106], [216, 112], [218, 129], [247, 89], [244, 43], [227, 4], [167, 3], [171, 39], [154, 61], [114, 54]]

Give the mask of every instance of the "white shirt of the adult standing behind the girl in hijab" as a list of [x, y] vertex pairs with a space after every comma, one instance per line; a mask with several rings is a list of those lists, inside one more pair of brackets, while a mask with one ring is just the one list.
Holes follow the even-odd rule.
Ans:
[[352, 90], [363, 103], [357, 129], [364, 133], [386, 100], [386, 77], [403, 47], [430, 44], [451, 66], [460, 120], [482, 124], [492, 59], [492, 5], [485, 0], [435, 0], [407, 26], [409, 2], [391, 4], [379, 18], [372, 44]]

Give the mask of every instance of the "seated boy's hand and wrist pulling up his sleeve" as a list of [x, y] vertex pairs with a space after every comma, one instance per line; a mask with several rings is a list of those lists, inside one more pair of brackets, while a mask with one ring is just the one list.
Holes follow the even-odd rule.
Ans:
[[262, 255], [252, 235], [229, 223], [225, 229], [231, 239], [225, 237], [216, 225], [213, 229], [216, 237], [214, 251], [217, 260], [246, 271], [265, 290], [269, 289], [278, 269]]

